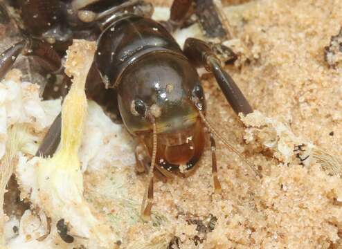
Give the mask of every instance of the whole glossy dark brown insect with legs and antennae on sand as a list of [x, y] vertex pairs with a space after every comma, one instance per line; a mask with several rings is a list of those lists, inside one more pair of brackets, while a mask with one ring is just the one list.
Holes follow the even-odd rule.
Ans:
[[[33, 4], [30, 8], [37, 8], [39, 17], [44, 14], [39, 12], [39, 4], [47, 8], [47, 2], [58, 3], [52, 9], [59, 13], [61, 8], [70, 10], [81, 1], [68, 5], [69, 1], [30, 0], [21, 3], [21, 8]], [[215, 192], [220, 192], [214, 137], [241, 155], [206, 119], [204, 89], [196, 68], [204, 66], [213, 73], [235, 113], [247, 114], [253, 110], [206, 42], [188, 38], [181, 50], [170, 35], [168, 29], [177, 28], [185, 21], [191, 0], [175, 0], [170, 20], [163, 24], [150, 19], [152, 12], [141, 1], [128, 1], [111, 8], [107, 1], [100, 3], [103, 5], [94, 10], [78, 8], [77, 15], [74, 13], [71, 18], [74, 22], [59, 17], [56, 22], [49, 19], [52, 31], [49, 25], [44, 32], [31, 30], [39, 39], [30, 38], [6, 50], [1, 57], [0, 77], [13, 64], [8, 57], [16, 57], [28, 47], [30, 55], [53, 66], [48, 69], [57, 70], [61, 67], [60, 51], [71, 39], [98, 34], [96, 55], [87, 76], [87, 96], [111, 113], [118, 111], [126, 129], [136, 138], [136, 171], [148, 172], [149, 177], [141, 210], [143, 219], [150, 219], [154, 179], [187, 177], [195, 172], [206, 136], [210, 137], [211, 143], [214, 188]], [[108, 9], [102, 10], [104, 6]], [[75, 21], [76, 16], [78, 21]], [[50, 15], [44, 18], [50, 18]], [[80, 21], [83, 24], [78, 24]], [[54, 35], [56, 33], [58, 35]], [[68, 39], [65, 38], [67, 34], [70, 35]], [[61, 118], [57, 116], [37, 155], [53, 154], [60, 141], [60, 126]], [[245, 160], [243, 156], [241, 158]]]

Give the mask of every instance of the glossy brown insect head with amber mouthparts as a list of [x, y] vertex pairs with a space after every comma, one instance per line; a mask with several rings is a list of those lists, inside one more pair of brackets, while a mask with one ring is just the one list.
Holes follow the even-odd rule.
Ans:
[[144, 55], [120, 79], [118, 106], [123, 122], [150, 155], [152, 122], [156, 122], [156, 164], [162, 173], [187, 176], [203, 152], [204, 125], [192, 102], [194, 96], [205, 106], [197, 71], [188, 59], [172, 52]]

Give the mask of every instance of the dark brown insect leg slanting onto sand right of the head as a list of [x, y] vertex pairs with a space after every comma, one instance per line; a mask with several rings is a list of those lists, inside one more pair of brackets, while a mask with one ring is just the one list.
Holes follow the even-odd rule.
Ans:
[[195, 38], [188, 38], [184, 44], [184, 53], [193, 65], [197, 67], [204, 66], [207, 71], [213, 72], [222, 93], [224, 93], [226, 100], [231, 104], [235, 113], [246, 115], [253, 112], [242, 91], [231, 76], [224, 71], [219, 59], [217, 59], [213, 50], [210, 49], [206, 42]]

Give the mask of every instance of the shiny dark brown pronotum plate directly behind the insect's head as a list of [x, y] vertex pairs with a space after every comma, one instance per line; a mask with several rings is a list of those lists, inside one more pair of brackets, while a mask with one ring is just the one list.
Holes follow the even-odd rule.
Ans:
[[127, 14], [115, 20], [100, 35], [94, 61], [108, 87], [116, 87], [120, 75], [135, 59], [166, 50], [183, 55], [177, 42], [161, 24]]

